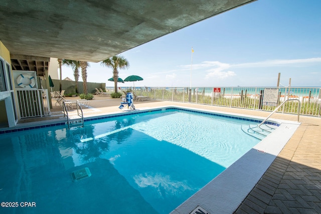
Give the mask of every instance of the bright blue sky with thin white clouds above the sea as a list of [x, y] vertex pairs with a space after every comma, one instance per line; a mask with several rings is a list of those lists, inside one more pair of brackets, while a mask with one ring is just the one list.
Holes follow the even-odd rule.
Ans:
[[[130, 68], [119, 77], [139, 75], [135, 86], [148, 87], [276, 86], [281, 73], [281, 86], [291, 78], [321, 87], [320, 8], [319, 0], [258, 0], [121, 53]], [[90, 63], [87, 73], [113, 86], [110, 68]]]

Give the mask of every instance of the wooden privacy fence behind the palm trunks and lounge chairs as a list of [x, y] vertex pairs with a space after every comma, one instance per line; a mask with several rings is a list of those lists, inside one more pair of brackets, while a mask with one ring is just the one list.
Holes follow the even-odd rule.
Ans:
[[[59, 86], [60, 86], [60, 80], [52, 80], [54, 83], [53, 88], [48, 87], [48, 92], [51, 91], [59, 91]], [[61, 89], [65, 90], [65, 95], [66, 94], [74, 94], [76, 93], [75, 91], [75, 86], [76, 82], [75, 81], [69, 81], [69, 80], [62, 80], [61, 81]], [[87, 82], [87, 88], [88, 88], [88, 93], [95, 94], [96, 89], [95, 88], [101, 88], [105, 89], [106, 88], [106, 83], [90, 83]], [[83, 87], [83, 82], [78, 82], [78, 93], [84, 93], [84, 87]]]

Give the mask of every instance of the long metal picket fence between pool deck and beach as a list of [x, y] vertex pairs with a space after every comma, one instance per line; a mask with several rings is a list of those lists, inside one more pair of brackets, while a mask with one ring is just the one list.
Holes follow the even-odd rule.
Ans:
[[[263, 92], [263, 87], [135, 88], [137, 95], [149, 96], [154, 100], [273, 111], [275, 106], [262, 105]], [[277, 106], [288, 99], [301, 102], [301, 115], [320, 116], [320, 88], [279, 87]], [[297, 114], [297, 105], [296, 102], [286, 103], [278, 112]]]

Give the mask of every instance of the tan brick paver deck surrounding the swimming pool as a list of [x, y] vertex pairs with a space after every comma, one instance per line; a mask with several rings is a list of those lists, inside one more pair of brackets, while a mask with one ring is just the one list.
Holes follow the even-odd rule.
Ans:
[[[84, 115], [122, 112], [124, 110], [118, 108], [120, 102], [120, 99], [109, 96], [95, 96], [89, 102], [90, 107], [84, 109]], [[155, 100], [134, 102], [134, 105], [136, 109], [175, 105], [260, 118], [270, 114], [257, 110]], [[51, 111], [51, 117], [21, 120], [18, 126], [52, 119], [63, 120], [62, 109], [55, 106], [54, 102]], [[297, 115], [275, 113], [271, 118], [296, 121]], [[321, 118], [300, 116], [299, 122], [301, 124], [292, 137], [235, 213], [321, 213]], [[206, 207], [203, 208], [206, 210]]]

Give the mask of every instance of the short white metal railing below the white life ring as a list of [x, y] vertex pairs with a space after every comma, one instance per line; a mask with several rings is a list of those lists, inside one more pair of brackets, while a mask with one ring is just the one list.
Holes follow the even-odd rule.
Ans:
[[47, 89], [17, 90], [16, 98], [20, 118], [50, 115]]

